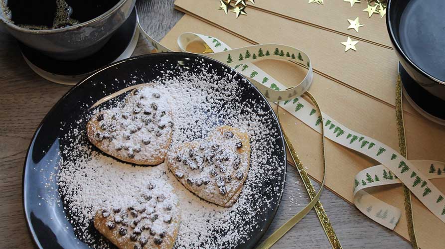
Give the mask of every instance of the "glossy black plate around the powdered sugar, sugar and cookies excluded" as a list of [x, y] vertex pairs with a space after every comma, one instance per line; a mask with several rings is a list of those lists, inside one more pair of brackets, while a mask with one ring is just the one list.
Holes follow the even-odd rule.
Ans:
[[[62, 199], [55, 195], [55, 200], [50, 201], [50, 203], [53, 202], [53, 205], [48, 205], [41, 198], [41, 196], [47, 193], [48, 188], [54, 188], [54, 190], [58, 188], [54, 180], [48, 181], [47, 179], [49, 179], [51, 174], [58, 172], [57, 164], [61, 159], [58, 151], [66, 147], [64, 145], [66, 140], [61, 139], [61, 137], [68, 131], [62, 128], [61, 123], [72, 124], [79, 117], [82, 117], [81, 115], [88, 112], [88, 108], [101, 98], [129, 85], [141, 83], [141, 81], [130, 83], [135, 75], [143, 79], [144, 82], [149, 82], [150, 79], [161, 76], [162, 73], [155, 68], [155, 65], [162, 63], [166, 65], [174, 64], [172, 67], [181, 66], [182, 70], [194, 71], [196, 69], [192, 64], [198, 58], [202, 59], [206, 64], [211, 63], [208, 72], [214, 70], [215, 74], [223, 75], [224, 70], [230, 70], [229, 67], [217, 61], [188, 53], [151, 54], [130, 58], [99, 70], [91, 77], [80, 82], [51, 109], [32, 138], [23, 170], [25, 218], [32, 238], [39, 248], [88, 248], [87, 244], [76, 239], [72, 225], [62, 212], [63, 204], [58, 206], [55, 203]], [[166, 67], [168, 68], [168, 66]], [[120, 79], [120, 82], [125, 80], [124, 82], [127, 82], [127, 84], [117, 83], [115, 78]], [[271, 123], [272, 128], [277, 130], [277, 135], [273, 142], [275, 149], [269, 151], [271, 158], [273, 158], [272, 156], [279, 158], [276, 164], [277, 168], [274, 168], [277, 177], [273, 180], [265, 179], [262, 187], [259, 187], [261, 190], [269, 188], [276, 190], [276, 192], [264, 191], [264, 196], [271, 200], [269, 204], [260, 204], [261, 210], [265, 210], [265, 212], [259, 214], [256, 220], [246, 220], [239, 224], [239, 226], [252, 223], [258, 224], [254, 231], [250, 232], [251, 239], [246, 242], [240, 241], [237, 246], [237, 248], [253, 248], [272, 223], [281, 202], [286, 180], [286, 153], [280, 125], [266, 99], [251, 83], [244, 81], [245, 78], [242, 75], [237, 74], [235, 79], [241, 86], [240, 89], [242, 89], [239, 102], [243, 104], [253, 103], [249, 100], [256, 100], [261, 105], [247, 105], [251, 105], [250, 108], [253, 110], [263, 111], [265, 113], [263, 117], [266, 117], [267, 120], [262, 120], [261, 122]], [[107, 82], [107, 84], [97, 84], [100, 82]], [[266, 163], [268, 162], [265, 161], [264, 164]], [[42, 182], [48, 182], [47, 186], [45, 187]], [[255, 202], [253, 196], [251, 200]]]

